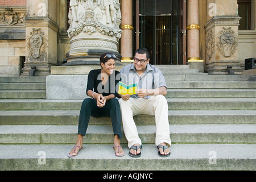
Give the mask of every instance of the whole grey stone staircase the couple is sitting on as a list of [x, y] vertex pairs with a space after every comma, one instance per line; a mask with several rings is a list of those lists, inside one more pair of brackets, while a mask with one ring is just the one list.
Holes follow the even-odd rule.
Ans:
[[256, 82], [158, 65], [168, 85], [171, 156], [155, 147], [155, 117], [137, 115], [141, 158], [114, 155], [110, 118], [91, 118], [77, 138], [81, 100], [46, 100], [46, 77], [0, 77], [1, 170], [255, 170]]

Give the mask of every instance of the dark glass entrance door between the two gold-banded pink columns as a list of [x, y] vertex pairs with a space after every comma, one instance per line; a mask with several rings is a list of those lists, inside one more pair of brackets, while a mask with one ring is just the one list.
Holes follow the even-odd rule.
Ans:
[[136, 13], [136, 48], [150, 51], [151, 64], [180, 64], [179, 0], [139, 0]]

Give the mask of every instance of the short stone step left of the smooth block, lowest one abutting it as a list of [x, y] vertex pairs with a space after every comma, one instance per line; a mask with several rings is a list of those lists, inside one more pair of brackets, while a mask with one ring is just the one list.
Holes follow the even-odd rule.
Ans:
[[46, 90], [0, 90], [0, 99], [46, 98]]

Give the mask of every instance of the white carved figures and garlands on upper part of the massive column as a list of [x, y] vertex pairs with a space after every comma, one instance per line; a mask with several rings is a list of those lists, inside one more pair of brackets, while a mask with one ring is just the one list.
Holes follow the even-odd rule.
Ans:
[[72, 38], [86, 32], [121, 38], [121, 11], [119, 0], [71, 0], [68, 36]]

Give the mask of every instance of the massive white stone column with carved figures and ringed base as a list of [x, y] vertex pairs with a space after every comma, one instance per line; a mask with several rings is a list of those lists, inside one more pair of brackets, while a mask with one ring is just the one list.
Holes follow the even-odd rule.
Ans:
[[121, 10], [119, 0], [71, 0], [68, 36], [71, 50], [64, 65], [99, 65], [104, 52], [118, 52], [121, 38]]

